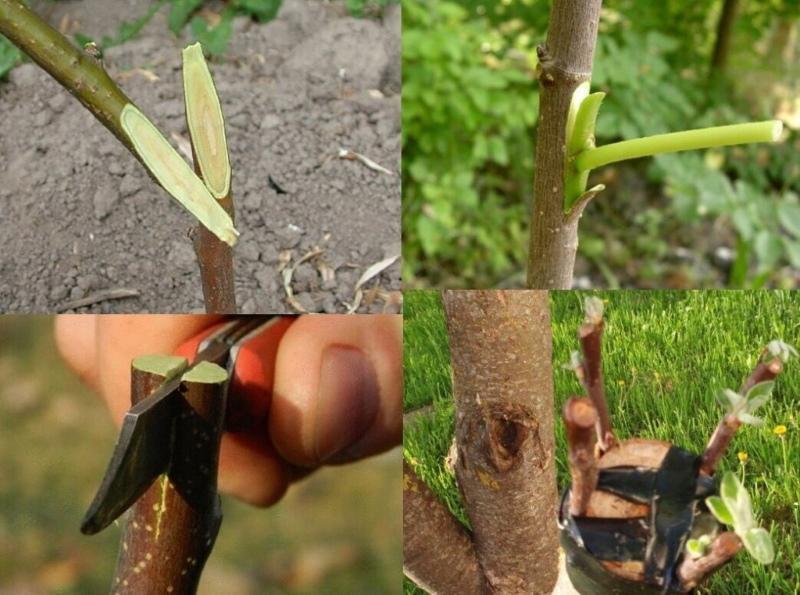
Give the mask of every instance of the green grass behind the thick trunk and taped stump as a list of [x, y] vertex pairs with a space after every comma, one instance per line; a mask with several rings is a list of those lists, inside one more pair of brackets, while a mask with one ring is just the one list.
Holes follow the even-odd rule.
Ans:
[[[579, 348], [576, 333], [583, 318], [585, 295], [551, 293], [556, 411], [561, 410], [566, 398], [582, 393], [573, 373], [562, 364]], [[665, 439], [702, 452], [721, 415], [715, 393], [723, 388], [738, 389], [769, 340], [780, 338], [800, 344], [797, 292], [626, 291], [592, 295], [606, 302], [606, 393], [612, 424], [622, 439]], [[407, 292], [405, 308], [405, 403], [407, 407], [431, 405], [432, 411], [407, 427], [404, 454], [463, 520], [455, 481], [443, 466], [453, 434], [444, 313], [435, 293]], [[423, 370], [410, 369], [420, 363], [426, 366]], [[435, 384], [427, 384], [428, 379]], [[775, 563], [760, 566], [740, 553], [701, 592], [800, 593], [798, 403], [800, 362], [792, 361], [778, 379], [772, 400], [759, 410], [766, 425], [742, 428], [719, 467], [720, 473], [744, 472], [756, 515], [772, 533]], [[783, 439], [772, 432], [778, 424], [788, 428]], [[556, 447], [561, 489], [569, 478], [561, 423], [556, 423]], [[737, 452], [748, 454], [744, 469]], [[405, 592], [420, 593], [408, 581]]]

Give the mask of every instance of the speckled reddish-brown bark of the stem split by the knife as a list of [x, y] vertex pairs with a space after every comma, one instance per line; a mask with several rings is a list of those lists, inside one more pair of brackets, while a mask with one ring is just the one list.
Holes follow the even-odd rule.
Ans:
[[[162, 381], [133, 368], [133, 404]], [[217, 462], [224, 384], [185, 383], [183, 387], [169, 471], [131, 509], [113, 593], [194, 593], [216, 540], [222, 521]]]

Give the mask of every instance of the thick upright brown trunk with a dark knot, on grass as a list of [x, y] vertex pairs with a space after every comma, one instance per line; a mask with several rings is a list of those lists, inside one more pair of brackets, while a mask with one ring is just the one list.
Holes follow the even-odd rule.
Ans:
[[546, 292], [446, 291], [456, 478], [478, 561], [498, 593], [550, 593], [558, 575]]

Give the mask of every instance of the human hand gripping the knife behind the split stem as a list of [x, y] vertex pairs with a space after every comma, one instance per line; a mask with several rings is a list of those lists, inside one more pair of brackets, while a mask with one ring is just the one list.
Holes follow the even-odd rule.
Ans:
[[[119, 425], [130, 408], [131, 360], [148, 353], [191, 360], [222, 320], [62, 315], [55, 336], [66, 362], [103, 397]], [[231, 380], [229, 399], [248, 423], [223, 435], [221, 491], [269, 506], [310, 469], [400, 443], [400, 316], [284, 317], [265, 333], [242, 346]]]

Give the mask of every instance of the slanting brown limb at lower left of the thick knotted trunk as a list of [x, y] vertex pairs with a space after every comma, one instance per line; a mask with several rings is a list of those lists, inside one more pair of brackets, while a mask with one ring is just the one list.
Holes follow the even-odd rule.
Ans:
[[432, 594], [488, 593], [472, 537], [405, 461], [403, 572]]

